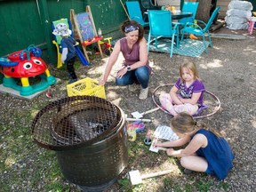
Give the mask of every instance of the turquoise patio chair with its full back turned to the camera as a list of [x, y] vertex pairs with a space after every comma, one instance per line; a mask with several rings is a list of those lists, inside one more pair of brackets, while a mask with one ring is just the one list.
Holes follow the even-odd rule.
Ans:
[[[148, 33], [148, 52], [149, 45], [154, 42], [157, 49], [157, 38], [160, 37], [171, 37], [172, 44], [170, 50], [170, 57], [172, 58], [173, 44], [176, 42], [176, 46], [179, 47], [179, 28], [178, 24], [172, 24], [172, 14], [170, 11], [162, 10], [148, 10], [148, 20], [149, 20], [149, 33]], [[176, 35], [176, 38], [175, 38]], [[151, 36], [154, 39], [151, 41]]]

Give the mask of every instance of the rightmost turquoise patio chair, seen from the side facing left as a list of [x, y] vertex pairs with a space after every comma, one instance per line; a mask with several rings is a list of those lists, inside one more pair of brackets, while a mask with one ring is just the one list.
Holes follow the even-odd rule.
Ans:
[[[200, 24], [202, 23], [204, 25], [204, 28], [201, 28], [199, 25], [196, 23], [186, 23], [185, 27], [180, 30], [180, 33], [182, 34], [181, 36], [181, 41], [183, 40], [184, 34], [193, 34], [195, 36], [202, 36], [203, 37], [203, 43], [205, 47], [205, 51], [208, 53], [208, 48], [207, 44], [205, 42], [205, 34], [208, 35], [209, 39], [209, 45], [212, 47], [212, 39], [210, 36], [210, 27], [212, 25], [213, 20], [215, 20], [218, 12], [220, 12], [220, 7], [217, 7], [214, 12], [212, 12], [212, 16], [208, 20], [207, 24], [203, 20], [197, 20], [197, 23]], [[196, 27], [196, 28], [195, 28]], [[187, 36], [188, 39], [188, 36]]]

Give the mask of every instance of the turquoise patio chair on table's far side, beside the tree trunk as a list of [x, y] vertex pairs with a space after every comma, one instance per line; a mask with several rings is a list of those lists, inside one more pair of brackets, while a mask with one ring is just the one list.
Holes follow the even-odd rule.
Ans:
[[184, 2], [183, 7], [182, 7], [182, 12], [192, 12], [193, 15], [189, 18], [183, 18], [178, 20], [178, 22], [181, 25], [185, 25], [187, 22], [193, 23], [196, 17], [196, 11], [198, 8], [199, 2]]

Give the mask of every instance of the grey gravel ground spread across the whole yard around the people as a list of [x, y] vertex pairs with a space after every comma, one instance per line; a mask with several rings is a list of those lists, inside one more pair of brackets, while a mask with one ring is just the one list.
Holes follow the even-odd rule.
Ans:
[[[232, 32], [227, 29], [219, 31], [219, 33], [223, 32], [247, 34], [247, 31]], [[228, 174], [228, 178], [224, 180], [229, 185], [228, 191], [255, 191], [255, 36], [254, 33], [254, 35], [247, 36], [244, 40], [213, 38], [213, 48], [209, 49], [208, 54], [204, 52], [199, 58], [173, 55], [173, 58], [170, 59], [169, 54], [167, 53], [150, 52], [149, 59], [153, 64], [153, 75], [150, 80], [148, 99], [143, 101], [139, 100], [139, 92], [129, 92], [126, 87], [116, 86], [113, 77], [110, 77], [108, 84], [106, 84], [108, 100], [113, 101], [116, 105], [123, 108], [126, 114], [133, 111], [142, 112], [150, 108], [155, 108], [156, 105], [151, 96], [156, 87], [161, 84], [174, 83], [179, 76], [178, 68], [183, 60], [194, 61], [199, 74], [204, 81], [206, 89], [217, 95], [221, 101], [221, 108], [215, 115], [201, 119], [200, 121], [204, 121], [205, 123], [212, 125], [212, 127], [225, 132], [226, 138], [236, 155], [234, 169]], [[92, 60], [89, 68], [80, 68], [77, 70], [78, 76], [80, 78], [83, 78], [84, 76], [99, 78], [101, 71], [104, 70], [106, 66], [106, 60], [108, 60], [108, 58], [105, 58], [104, 60]], [[65, 80], [50, 89], [53, 96], [52, 100], [65, 97], [67, 95], [65, 90], [67, 84], [65, 72], [59, 72], [55, 68], [52, 68], [50, 71], [54, 76], [61, 79], [64, 78]], [[17, 120], [15, 121], [15, 117], [12, 116], [11, 118], [8, 114], [15, 114], [17, 108], [22, 108], [24, 113], [29, 112], [33, 114], [31, 112], [32, 105], [35, 105], [36, 103], [38, 109], [43, 108], [45, 100], [47, 101], [49, 99], [46, 98], [45, 95], [41, 95], [32, 101], [20, 100], [2, 93], [0, 94], [0, 97], [0, 125], [1, 127], [4, 127], [4, 129], [1, 128], [2, 131], [0, 132], [1, 157], [1, 151], [3, 152], [4, 148], [8, 148], [8, 146], [11, 145], [11, 141], [6, 141], [4, 138], [6, 138], [8, 134], [12, 134], [12, 129], [15, 127], [15, 124], [23, 124], [24, 127], [28, 127], [28, 129], [31, 124], [31, 119], [22, 120], [21, 118], [21, 120], [17, 122]], [[22, 117], [23, 115], [20, 116]], [[156, 127], [158, 124], [169, 124], [170, 121], [170, 116], [164, 112], [155, 112], [148, 114], [146, 117], [153, 119], [152, 124], [147, 124], [148, 127]], [[17, 138], [19, 138], [19, 136], [17, 136]], [[38, 156], [41, 154], [41, 148], [35, 146], [31, 147], [31, 141], [28, 140], [28, 146], [25, 146], [25, 148], [31, 148], [31, 155], [26, 156], [23, 154], [23, 158], [16, 165], [14, 164], [11, 170], [0, 172], [0, 180], [2, 180], [0, 182], [0, 191], [2, 191], [1, 188], [3, 187], [1, 187], [1, 185], [8, 185], [10, 183], [13, 185], [12, 191], [47, 191], [44, 189], [44, 185], [47, 181], [42, 180], [37, 186], [32, 185], [33, 187], [31, 187], [31, 180], [33, 180], [32, 172], [35, 172], [36, 170], [36, 166], [33, 166], [33, 164], [38, 164], [38, 162], [39, 164], [44, 164], [45, 170], [47, 170], [49, 163], [40, 163], [40, 157]], [[20, 150], [20, 156], [22, 156], [22, 150]], [[166, 158], [166, 155], [161, 153], [157, 158]], [[6, 163], [6, 159], [1, 157], [0, 160], [3, 166], [3, 163]], [[157, 161], [155, 165], [157, 165]], [[150, 171], [151, 166], [149, 163], [148, 167]], [[129, 168], [138, 169], [138, 166], [137, 164], [129, 164]], [[129, 172], [128, 169], [125, 171]], [[14, 175], [20, 175], [20, 172], [27, 172], [25, 173], [26, 180], [22, 182], [22, 185], [17, 186], [15, 185], [15, 182], [13, 184], [12, 177], [14, 177]], [[47, 172], [45, 171], [45, 174], [46, 173]], [[120, 177], [124, 176], [125, 172], [122, 173]], [[174, 183], [185, 185], [189, 183], [189, 177], [189, 175], [180, 173], [180, 176], [176, 179], [172, 178], [172, 181]], [[196, 177], [197, 179], [204, 177], [206, 180], [212, 180], [216, 185], [212, 186], [211, 191], [220, 191], [220, 188], [217, 187], [219, 181], [214, 177], [201, 173], [193, 174], [193, 177]], [[61, 182], [62, 184], [64, 183], [68, 185], [67, 180], [62, 180]], [[141, 189], [141, 191], [159, 191], [156, 188], [158, 185], [157, 180], [151, 180], [151, 182], [148, 182], [147, 184], [148, 188]], [[115, 184], [106, 191], [120, 190], [118, 184]], [[76, 189], [71, 191], [76, 191]], [[138, 189], [136, 191], [140, 190]], [[166, 189], [166, 191], [172, 190]]]

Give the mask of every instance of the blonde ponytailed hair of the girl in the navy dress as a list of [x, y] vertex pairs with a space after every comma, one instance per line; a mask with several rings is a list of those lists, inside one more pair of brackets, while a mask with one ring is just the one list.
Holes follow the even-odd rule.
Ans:
[[195, 129], [205, 129], [212, 132], [218, 138], [222, 136], [220, 132], [214, 130], [212, 127], [208, 127], [206, 124], [197, 124], [193, 116], [190, 116], [186, 112], [181, 112], [177, 116], [174, 116], [171, 120], [171, 127], [175, 132], [180, 133], [193, 132]]

